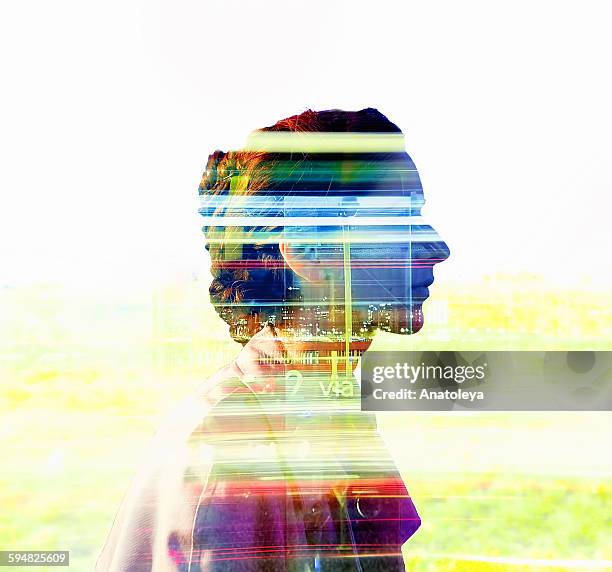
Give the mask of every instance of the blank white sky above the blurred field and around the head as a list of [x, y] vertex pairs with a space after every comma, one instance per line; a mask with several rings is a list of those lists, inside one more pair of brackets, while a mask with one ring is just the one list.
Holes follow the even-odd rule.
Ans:
[[0, 285], [200, 272], [207, 156], [306, 108], [406, 134], [438, 279], [612, 285], [612, 4], [7, 0]]

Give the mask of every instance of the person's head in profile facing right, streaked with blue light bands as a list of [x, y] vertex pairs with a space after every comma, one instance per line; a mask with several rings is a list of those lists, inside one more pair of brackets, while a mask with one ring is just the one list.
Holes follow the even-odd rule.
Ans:
[[247, 341], [414, 333], [448, 248], [420, 219], [401, 130], [376, 109], [305, 111], [210, 155], [199, 187], [211, 301]]

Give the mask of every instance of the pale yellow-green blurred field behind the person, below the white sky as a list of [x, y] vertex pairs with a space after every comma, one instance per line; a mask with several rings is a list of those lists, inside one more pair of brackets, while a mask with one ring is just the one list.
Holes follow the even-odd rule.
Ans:
[[[540, 285], [525, 310], [504, 285], [441, 291], [401, 347], [612, 349], [609, 293], [545, 306]], [[0, 310], [0, 549], [70, 550], [90, 571], [158, 416], [239, 348], [190, 281], [103, 303], [4, 290]], [[612, 413], [379, 422], [423, 519], [408, 570], [612, 570]]]

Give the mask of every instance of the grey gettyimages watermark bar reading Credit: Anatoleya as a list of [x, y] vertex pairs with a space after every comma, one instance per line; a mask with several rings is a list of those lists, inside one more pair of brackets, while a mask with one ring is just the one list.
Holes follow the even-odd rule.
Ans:
[[612, 352], [366, 352], [361, 408], [612, 410]]

